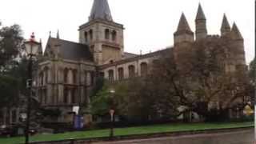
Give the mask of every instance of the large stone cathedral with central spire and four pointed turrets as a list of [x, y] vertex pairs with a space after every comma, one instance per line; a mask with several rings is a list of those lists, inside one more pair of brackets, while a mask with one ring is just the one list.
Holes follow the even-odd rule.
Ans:
[[228, 70], [235, 70], [238, 65], [246, 66], [242, 34], [235, 23], [230, 27], [225, 14], [221, 35], [209, 35], [206, 16], [199, 4], [195, 26], [193, 32], [182, 14], [174, 32], [174, 46], [149, 54], [126, 53], [124, 26], [114, 22], [107, 0], [94, 0], [88, 22], [78, 28], [79, 42], [63, 40], [59, 35], [49, 37], [37, 71], [38, 98], [42, 106], [62, 112], [58, 122], [72, 122], [70, 112], [74, 106], [90, 105], [96, 78], [118, 82], [142, 76], [148, 72], [150, 63], [163, 54], [175, 53], [187, 43], [206, 38], [230, 36], [240, 53], [230, 62]]

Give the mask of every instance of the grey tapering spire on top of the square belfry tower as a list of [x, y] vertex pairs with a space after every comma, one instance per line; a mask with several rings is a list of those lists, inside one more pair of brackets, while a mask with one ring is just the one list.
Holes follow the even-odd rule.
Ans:
[[89, 21], [94, 19], [104, 19], [106, 21], [113, 21], [110, 12], [110, 6], [107, 0], [94, 0], [94, 5], [90, 12]]

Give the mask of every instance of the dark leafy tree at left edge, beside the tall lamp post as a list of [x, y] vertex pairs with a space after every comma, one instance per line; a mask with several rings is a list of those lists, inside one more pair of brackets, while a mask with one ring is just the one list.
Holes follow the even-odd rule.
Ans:
[[19, 94], [26, 94], [26, 60], [22, 58], [22, 30], [20, 26], [0, 29], [1, 107], [17, 104]]

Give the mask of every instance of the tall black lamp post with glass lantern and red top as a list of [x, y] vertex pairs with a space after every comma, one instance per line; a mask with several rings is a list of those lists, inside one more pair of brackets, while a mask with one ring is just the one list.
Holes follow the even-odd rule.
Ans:
[[25, 143], [29, 143], [29, 133], [30, 133], [30, 111], [31, 111], [31, 97], [32, 97], [32, 65], [33, 65], [33, 57], [38, 54], [38, 49], [40, 46], [39, 42], [36, 42], [34, 39], [34, 33], [32, 33], [30, 39], [26, 42], [24, 42], [25, 50], [26, 50], [26, 56], [29, 60], [28, 64], [28, 80], [27, 80], [27, 88], [30, 91], [30, 94], [27, 96], [27, 109], [26, 109], [26, 132], [25, 137], [26, 141]]

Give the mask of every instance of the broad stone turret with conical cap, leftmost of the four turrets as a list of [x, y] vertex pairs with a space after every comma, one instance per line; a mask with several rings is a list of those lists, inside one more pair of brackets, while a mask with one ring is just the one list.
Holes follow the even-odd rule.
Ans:
[[178, 29], [174, 33], [174, 45], [186, 42], [194, 42], [194, 33], [191, 31], [188, 22], [186, 21], [185, 14], [182, 16], [178, 22]]

